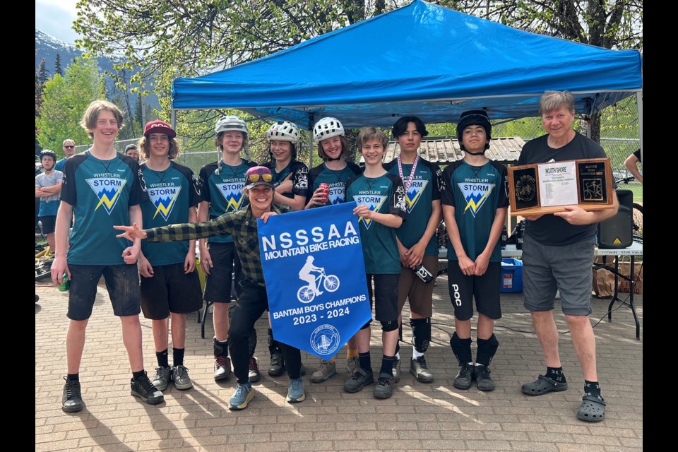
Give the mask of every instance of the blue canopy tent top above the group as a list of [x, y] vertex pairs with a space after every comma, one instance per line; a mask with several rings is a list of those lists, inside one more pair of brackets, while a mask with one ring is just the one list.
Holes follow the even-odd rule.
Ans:
[[268, 57], [172, 84], [173, 109], [237, 108], [304, 129], [393, 126], [416, 114], [456, 122], [536, 116], [545, 90], [570, 90], [588, 115], [642, 90], [637, 50], [609, 50], [516, 30], [415, 0]]

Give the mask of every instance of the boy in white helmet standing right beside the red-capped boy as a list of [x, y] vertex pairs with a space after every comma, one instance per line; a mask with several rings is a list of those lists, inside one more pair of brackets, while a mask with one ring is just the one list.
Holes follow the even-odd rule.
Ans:
[[[220, 118], [215, 125], [214, 145], [219, 149], [219, 160], [208, 163], [200, 170], [198, 186], [201, 199], [198, 203], [198, 222], [217, 218], [225, 213], [240, 210], [246, 206], [247, 198], [242, 194], [245, 173], [255, 162], [240, 157], [245, 148], [249, 129], [245, 121], [237, 116]], [[228, 357], [228, 309], [231, 301], [233, 273], [236, 286], [241, 275], [241, 266], [235, 251], [231, 234], [216, 235], [199, 239], [200, 266], [207, 278], [203, 299], [213, 302], [214, 323], [214, 379], [227, 380], [231, 374]], [[254, 363], [253, 363], [254, 361]], [[254, 365], [253, 365], [254, 364]], [[251, 357], [252, 381], [258, 381], [256, 359]]]

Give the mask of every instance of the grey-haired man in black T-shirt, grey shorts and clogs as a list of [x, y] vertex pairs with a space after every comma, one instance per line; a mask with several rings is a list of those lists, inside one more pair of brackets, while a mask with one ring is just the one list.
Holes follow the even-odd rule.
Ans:
[[[546, 91], [540, 98], [539, 112], [547, 134], [525, 143], [518, 165], [607, 157], [600, 145], [572, 129], [574, 98], [569, 91]], [[559, 290], [561, 309], [584, 374], [584, 396], [577, 417], [588, 422], [605, 419], [589, 315], [596, 227], [598, 222], [617, 214], [619, 201], [614, 191], [612, 196], [614, 209], [589, 212], [578, 206], [565, 206], [564, 212], [525, 216], [524, 305], [532, 314], [547, 371], [536, 381], [523, 384], [522, 391], [528, 396], [541, 396], [567, 389], [553, 319], [554, 299]]]

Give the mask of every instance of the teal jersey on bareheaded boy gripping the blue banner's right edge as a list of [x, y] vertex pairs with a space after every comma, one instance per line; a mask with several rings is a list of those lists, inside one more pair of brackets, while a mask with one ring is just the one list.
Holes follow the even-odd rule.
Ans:
[[[355, 201], [378, 213], [393, 213], [405, 219], [405, 189], [400, 177], [383, 174], [380, 177], [353, 177], [346, 183], [347, 201]], [[374, 220], [359, 218], [365, 271], [370, 275], [400, 274], [400, 254], [396, 229]]]

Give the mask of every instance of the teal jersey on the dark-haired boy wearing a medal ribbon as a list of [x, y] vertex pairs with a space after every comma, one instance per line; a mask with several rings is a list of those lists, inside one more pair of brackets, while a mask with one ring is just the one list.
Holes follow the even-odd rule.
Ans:
[[[391, 160], [391, 162], [386, 163], [383, 167], [394, 176], [400, 177], [398, 159]], [[420, 157], [415, 174], [412, 176], [412, 182], [408, 187], [407, 183], [412, 173], [412, 165], [403, 164], [402, 167], [403, 177], [405, 178], [403, 185], [405, 186], [405, 202], [408, 206], [408, 220], [398, 228], [396, 234], [400, 243], [405, 248], [410, 249], [424, 235], [429, 218], [431, 218], [433, 213], [432, 202], [440, 200], [441, 187], [444, 186], [444, 183], [440, 167]], [[426, 245], [424, 256], [437, 255], [438, 234], [433, 234]]]

